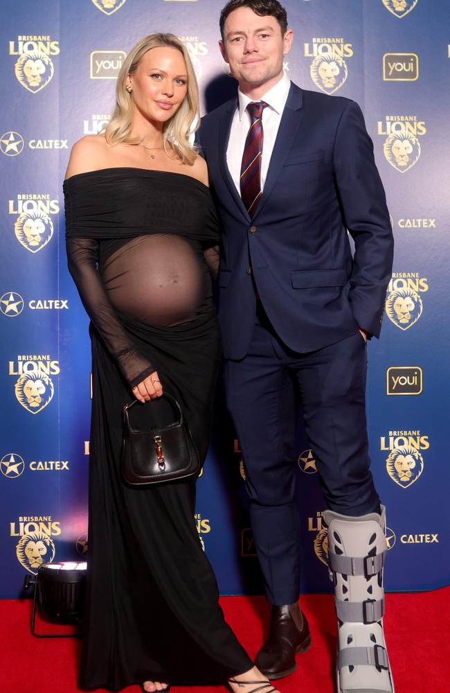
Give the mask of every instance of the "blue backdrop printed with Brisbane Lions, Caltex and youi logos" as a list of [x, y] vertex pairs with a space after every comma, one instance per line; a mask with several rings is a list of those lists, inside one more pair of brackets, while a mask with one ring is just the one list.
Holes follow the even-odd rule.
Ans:
[[[99, 132], [136, 40], [186, 43], [202, 111], [235, 89], [217, 49], [223, 0], [4, 0], [0, 22], [0, 597], [42, 562], [88, 556], [88, 320], [66, 268], [62, 179]], [[285, 0], [298, 85], [357, 100], [396, 240], [381, 341], [368, 347], [372, 470], [388, 509], [390, 590], [449, 578], [448, 0]], [[217, 396], [197, 527], [223, 594], [260, 593], [239, 441]], [[314, 450], [298, 432], [305, 592], [331, 589]], [[158, 522], [158, 518], [154, 518]]]

